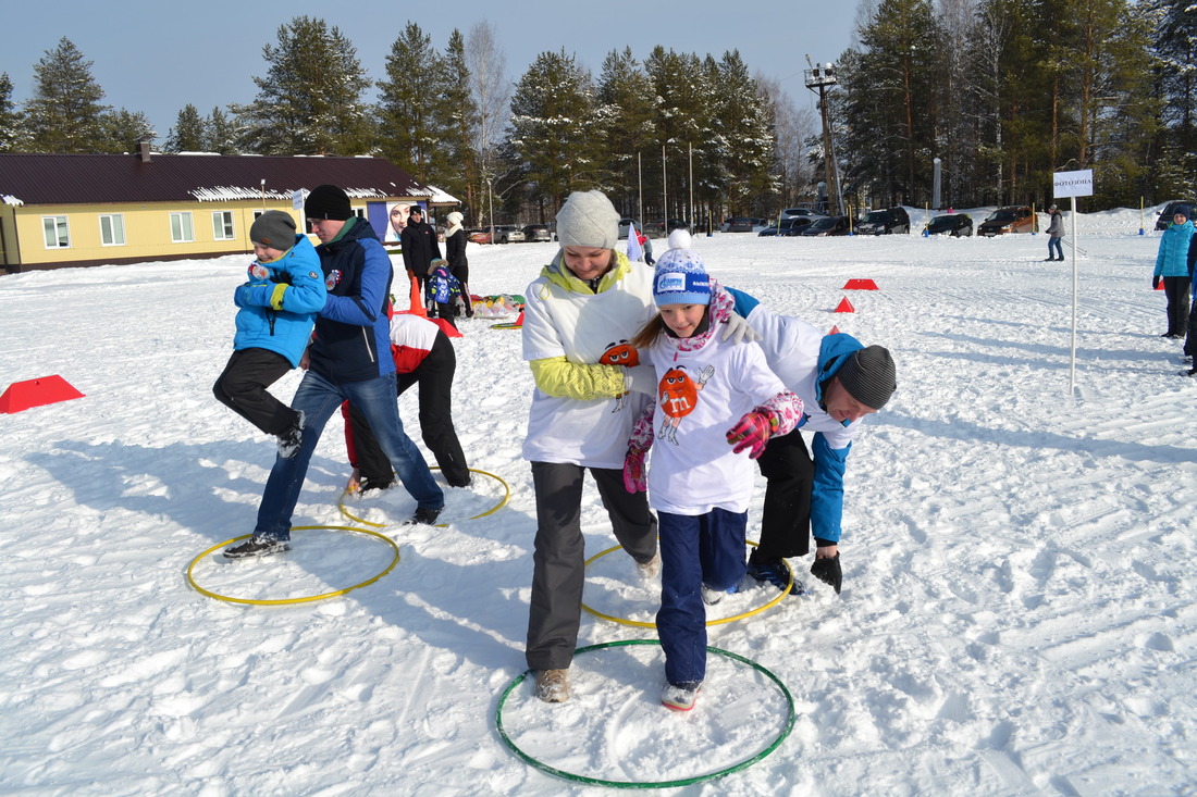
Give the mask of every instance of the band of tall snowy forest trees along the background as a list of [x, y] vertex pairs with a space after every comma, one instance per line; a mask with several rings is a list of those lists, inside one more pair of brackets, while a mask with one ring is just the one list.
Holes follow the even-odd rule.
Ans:
[[[935, 158], [943, 206], [1043, 205], [1052, 172], [1075, 169], [1094, 170], [1093, 209], [1197, 194], [1191, 0], [864, 0], [855, 38], [826, 109], [855, 207], [924, 205]], [[409, 22], [372, 83], [336, 26], [296, 17], [262, 55], [253, 102], [187, 104], [159, 136], [103, 103], [63, 37], [34, 65], [29, 101], [0, 74], [0, 152], [130, 152], [150, 136], [168, 152], [376, 154], [460, 197], [473, 223], [484, 197], [535, 223], [587, 188], [628, 208], [643, 190], [648, 218], [686, 218], [691, 195], [700, 218], [767, 215], [826, 172], [801, 78], [751, 73], [747, 45], [616, 47], [597, 75], [560, 48], [512, 79], [488, 23], [442, 48]]]

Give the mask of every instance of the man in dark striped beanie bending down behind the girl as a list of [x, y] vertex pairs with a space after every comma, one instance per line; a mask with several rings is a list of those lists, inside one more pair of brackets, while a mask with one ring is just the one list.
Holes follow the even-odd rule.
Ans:
[[[760, 544], [748, 558], [748, 572], [786, 589], [783, 560], [808, 554], [813, 536], [810, 572], [838, 594], [847, 454], [862, 419], [881, 409], [898, 389], [893, 358], [881, 346], [863, 346], [843, 333], [824, 335], [804, 321], [770, 312], [747, 293], [727, 290], [736, 300], [736, 314], [760, 336], [765, 361], [802, 398], [806, 413], [798, 428], [770, 439], [757, 461], [767, 486]], [[809, 450], [803, 431], [814, 432]], [[795, 579], [790, 594], [802, 591]]]

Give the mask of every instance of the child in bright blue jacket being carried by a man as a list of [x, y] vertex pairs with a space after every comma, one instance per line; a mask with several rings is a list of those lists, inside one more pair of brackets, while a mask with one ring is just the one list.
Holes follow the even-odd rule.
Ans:
[[298, 448], [303, 419], [267, 388], [298, 367], [316, 312], [324, 306], [324, 275], [306, 236], [282, 211], [267, 211], [249, 229], [256, 260], [249, 281], [233, 292], [237, 333], [232, 357], [212, 385], [217, 400], [279, 438], [284, 456]]

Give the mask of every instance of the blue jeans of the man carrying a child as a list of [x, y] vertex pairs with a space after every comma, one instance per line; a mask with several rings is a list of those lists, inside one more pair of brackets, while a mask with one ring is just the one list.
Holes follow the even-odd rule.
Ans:
[[378, 445], [415, 503], [429, 509], [444, 506], [444, 493], [432, 479], [432, 471], [420, 450], [403, 433], [399, 402], [395, 400], [394, 373], [338, 384], [315, 371], [308, 371], [291, 401], [291, 408], [304, 414], [303, 443], [290, 458], [275, 457], [271, 477], [266, 480], [262, 503], [257, 507], [255, 537], [291, 539], [291, 516], [299, 500], [304, 476], [308, 475], [308, 464], [320, 442], [320, 433], [342, 401], [351, 402], [365, 415]]

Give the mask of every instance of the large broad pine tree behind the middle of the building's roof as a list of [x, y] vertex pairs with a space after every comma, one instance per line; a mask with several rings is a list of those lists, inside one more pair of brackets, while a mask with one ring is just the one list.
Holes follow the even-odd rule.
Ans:
[[233, 112], [243, 147], [260, 154], [363, 154], [372, 128], [357, 50], [323, 19], [296, 17], [266, 44], [257, 97]]

